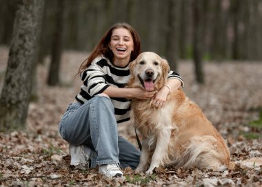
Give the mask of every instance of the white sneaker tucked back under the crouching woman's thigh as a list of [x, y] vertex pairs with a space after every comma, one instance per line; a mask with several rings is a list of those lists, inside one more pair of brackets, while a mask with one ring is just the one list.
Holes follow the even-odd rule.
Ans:
[[91, 149], [88, 146], [74, 146], [70, 144], [70, 165], [75, 166], [79, 169], [88, 169], [89, 168], [89, 157]]

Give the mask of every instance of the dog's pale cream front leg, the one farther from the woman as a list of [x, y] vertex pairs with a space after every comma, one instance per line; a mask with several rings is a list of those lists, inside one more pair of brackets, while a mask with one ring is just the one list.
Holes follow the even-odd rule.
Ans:
[[168, 152], [168, 144], [170, 142], [170, 137], [170, 129], [162, 129], [158, 132], [156, 149], [154, 150], [150, 167], [146, 173], [152, 174], [154, 168], [161, 166], [161, 162], [163, 161], [165, 154], [167, 154]]

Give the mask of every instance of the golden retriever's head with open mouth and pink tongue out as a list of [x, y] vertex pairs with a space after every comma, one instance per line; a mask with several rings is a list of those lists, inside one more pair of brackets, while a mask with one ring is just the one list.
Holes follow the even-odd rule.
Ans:
[[165, 83], [170, 67], [168, 61], [154, 52], [143, 52], [130, 63], [129, 87], [159, 90]]

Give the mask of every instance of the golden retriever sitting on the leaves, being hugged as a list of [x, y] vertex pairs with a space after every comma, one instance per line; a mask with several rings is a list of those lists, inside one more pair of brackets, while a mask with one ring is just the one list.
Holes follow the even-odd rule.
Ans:
[[[130, 63], [129, 88], [159, 90], [167, 81], [168, 61], [143, 52]], [[134, 123], [142, 135], [137, 171], [152, 173], [159, 166], [224, 170], [230, 152], [202, 110], [181, 90], [173, 90], [165, 105], [154, 108], [150, 99], [133, 99]]]

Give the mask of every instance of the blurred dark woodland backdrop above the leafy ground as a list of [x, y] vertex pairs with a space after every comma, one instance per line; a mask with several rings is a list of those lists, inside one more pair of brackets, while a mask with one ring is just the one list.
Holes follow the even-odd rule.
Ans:
[[[128, 22], [137, 29], [142, 50], [163, 57], [192, 59], [196, 0], [64, 0], [63, 49], [90, 51], [112, 24]], [[17, 0], [0, 0], [0, 44], [10, 45]], [[203, 59], [262, 59], [261, 0], [198, 0], [197, 34]], [[52, 52], [57, 6], [46, 0], [39, 59]], [[170, 43], [171, 42], [171, 43]], [[175, 48], [177, 46], [177, 48]], [[174, 54], [173, 55], [170, 55]], [[168, 59], [169, 60], [169, 59]]]

